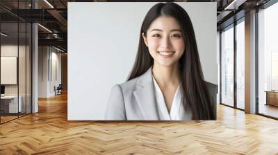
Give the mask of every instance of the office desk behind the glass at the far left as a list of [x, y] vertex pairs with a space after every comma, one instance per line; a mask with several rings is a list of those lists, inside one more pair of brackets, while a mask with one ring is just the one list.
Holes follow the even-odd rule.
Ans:
[[17, 107], [17, 95], [4, 95], [1, 96], [1, 109], [5, 113], [22, 112], [22, 96], [19, 95], [19, 102]]

